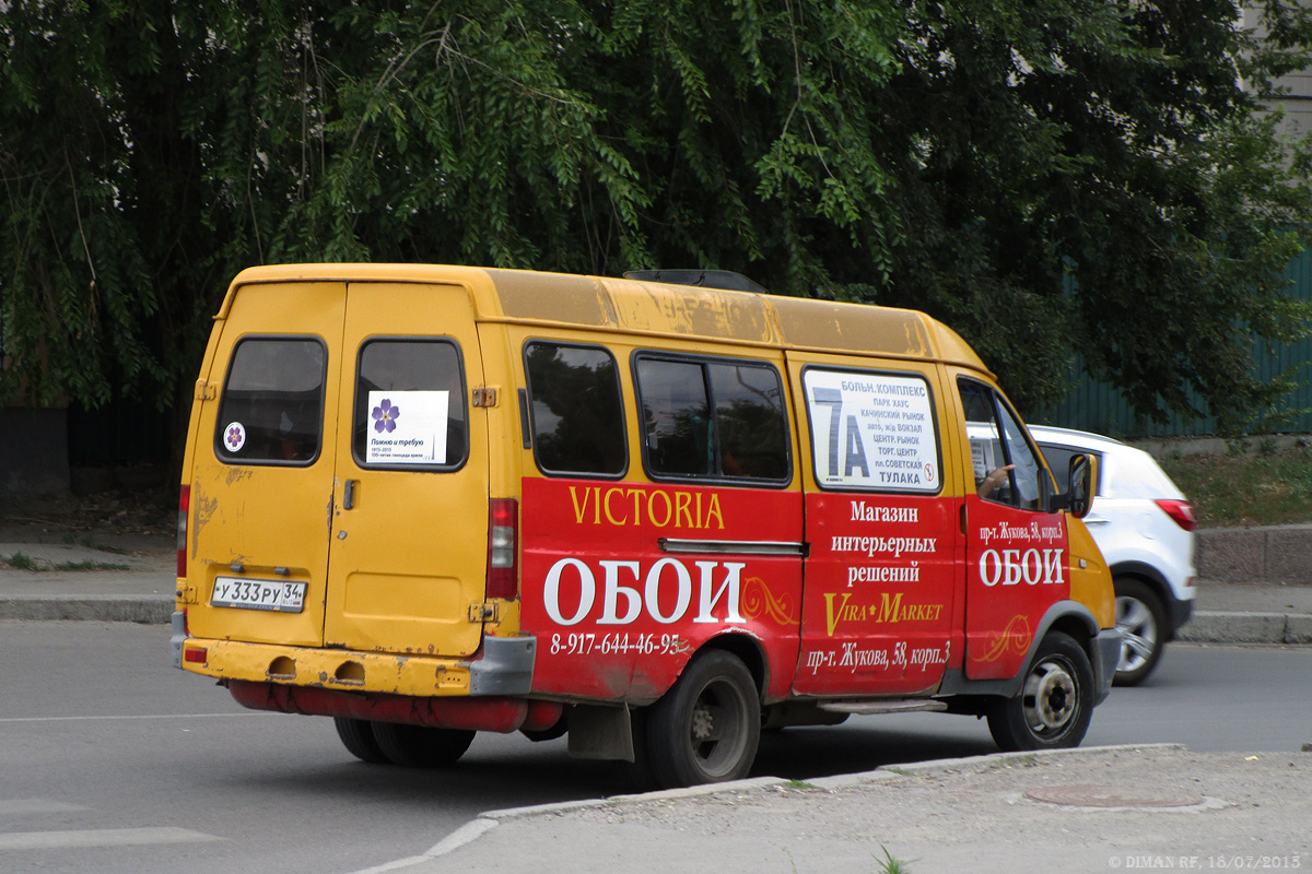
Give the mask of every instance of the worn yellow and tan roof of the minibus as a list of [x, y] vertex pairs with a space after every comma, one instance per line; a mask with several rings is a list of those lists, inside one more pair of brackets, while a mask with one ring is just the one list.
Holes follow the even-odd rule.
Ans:
[[989, 373], [956, 332], [912, 309], [760, 295], [609, 276], [421, 263], [272, 265], [240, 286], [282, 282], [449, 282], [468, 287], [476, 317], [771, 349], [935, 360]]

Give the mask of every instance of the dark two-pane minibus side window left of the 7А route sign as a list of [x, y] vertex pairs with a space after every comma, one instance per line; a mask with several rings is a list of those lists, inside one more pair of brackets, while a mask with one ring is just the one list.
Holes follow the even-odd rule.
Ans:
[[783, 384], [774, 367], [643, 355], [635, 373], [653, 478], [791, 478]]

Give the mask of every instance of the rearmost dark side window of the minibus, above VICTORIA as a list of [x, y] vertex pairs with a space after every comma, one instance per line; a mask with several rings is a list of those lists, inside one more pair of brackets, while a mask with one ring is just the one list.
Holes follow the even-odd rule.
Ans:
[[593, 346], [525, 349], [533, 453], [543, 473], [619, 476], [627, 468], [614, 356]]

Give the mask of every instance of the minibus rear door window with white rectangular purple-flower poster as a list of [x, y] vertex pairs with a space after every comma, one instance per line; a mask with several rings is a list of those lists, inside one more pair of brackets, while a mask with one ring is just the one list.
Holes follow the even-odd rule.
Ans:
[[447, 339], [371, 339], [359, 350], [352, 451], [379, 468], [451, 470], [468, 455], [461, 352]]

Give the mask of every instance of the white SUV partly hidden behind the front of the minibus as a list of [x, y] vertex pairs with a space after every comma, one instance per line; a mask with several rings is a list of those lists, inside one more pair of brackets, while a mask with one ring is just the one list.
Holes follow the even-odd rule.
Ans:
[[1194, 609], [1194, 508], [1143, 449], [1067, 428], [1031, 426], [1030, 434], [1059, 482], [1072, 455], [1093, 459], [1094, 498], [1084, 524], [1117, 587], [1124, 642], [1115, 683], [1136, 685]]

